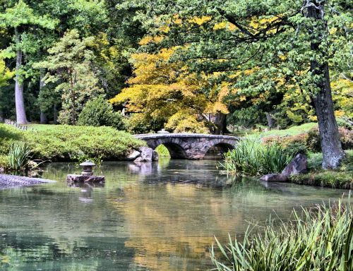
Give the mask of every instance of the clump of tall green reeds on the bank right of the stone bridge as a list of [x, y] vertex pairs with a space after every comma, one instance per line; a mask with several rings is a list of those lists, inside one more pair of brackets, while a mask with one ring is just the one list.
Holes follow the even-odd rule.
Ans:
[[293, 159], [294, 152], [280, 144], [262, 145], [258, 140], [240, 140], [235, 150], [225, 154], [221, 167], [232, 174], [259, 175], [278, 173]]

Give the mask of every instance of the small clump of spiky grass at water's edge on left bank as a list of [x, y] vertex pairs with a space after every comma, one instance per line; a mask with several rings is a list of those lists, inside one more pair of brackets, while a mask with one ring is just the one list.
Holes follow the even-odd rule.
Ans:
[[22, 170], [28, 167], [31, 149], [27, 143], [12, 143], [8, 152], [7, 162], [9, 169]]

